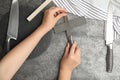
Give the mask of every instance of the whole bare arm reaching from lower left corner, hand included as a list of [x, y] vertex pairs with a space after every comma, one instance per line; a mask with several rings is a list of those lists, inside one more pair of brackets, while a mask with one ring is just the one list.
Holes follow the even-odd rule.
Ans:
[[0, 80], [4, 76], [4, 80], [9, 80], [13, 77], [16, 71], [20, 68], [32, 50], [38, 44], [40, 39], [54, 27], [57, 21], [67, 15], [67, 11], [63, 8], [51, 8], [45, 12], [41, 27], [34, 31], [28, 38], [18, 44], [14, 49], [0, 62]]

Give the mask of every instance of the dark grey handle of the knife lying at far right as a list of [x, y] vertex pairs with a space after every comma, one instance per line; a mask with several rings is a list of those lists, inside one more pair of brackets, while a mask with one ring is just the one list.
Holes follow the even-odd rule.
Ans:
[[111, 73], [113, 69], [113, 49], [112, 44], [107, 45], [106, 71]]

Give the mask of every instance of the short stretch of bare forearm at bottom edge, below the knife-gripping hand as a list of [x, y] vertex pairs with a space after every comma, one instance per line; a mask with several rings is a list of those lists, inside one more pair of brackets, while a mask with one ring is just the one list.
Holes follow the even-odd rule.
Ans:
[[59, 80], [70, 80], [71, 79], [71, 71], [62, 70], [59, 71]]

